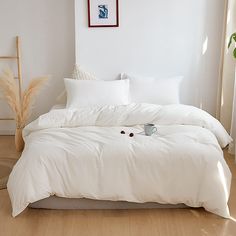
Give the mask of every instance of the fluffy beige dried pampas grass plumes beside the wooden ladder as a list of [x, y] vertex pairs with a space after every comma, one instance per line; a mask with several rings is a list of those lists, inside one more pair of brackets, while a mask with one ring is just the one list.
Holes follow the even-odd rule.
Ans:
[[2, 76], [0, 76], [0, 90], [15, 114], [17, 128], [23, 128], [26, 125], [31, 115], [35, 97], [47, 80], [47, 77], [35, 78], [23, 94], [19, 94], [19, 87], [12, 71], [10, 69], [3, 71]]

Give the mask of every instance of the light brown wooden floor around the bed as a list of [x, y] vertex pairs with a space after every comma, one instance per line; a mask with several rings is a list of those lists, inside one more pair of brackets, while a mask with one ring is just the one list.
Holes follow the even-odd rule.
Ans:
[[[12, 137], [0, 137], [0, 159], [15, 158]], [[16, 218], [6, 190], [0, 190], [0, 236], [235, 236], [236, 165], [225, 152], [233, 173], [229, 201], [232, 219], [223, 219], [203, 209], [153, 210], [33, 210]]]

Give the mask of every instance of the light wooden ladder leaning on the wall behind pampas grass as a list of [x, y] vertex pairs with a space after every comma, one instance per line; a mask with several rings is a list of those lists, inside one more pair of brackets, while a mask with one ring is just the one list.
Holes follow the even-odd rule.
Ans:
[[[21, 75], [21, 52], [20, 52], [20, 37], [16, 36], [16, 56], [0, 56], [0, 60], [16, 60], [17, 62], [17, 77], [19, 86], [19, 99], [21, 101], [21, 91], [22, 91], [22, 75]], [[15, 120], [14, 118], [0, 118], [0, 121], [4, 120]]]

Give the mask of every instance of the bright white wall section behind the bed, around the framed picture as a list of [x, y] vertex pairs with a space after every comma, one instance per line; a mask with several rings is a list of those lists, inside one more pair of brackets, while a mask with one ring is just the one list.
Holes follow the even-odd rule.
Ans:
[[119, 0], [119, 28], [88, 28], [76, 0], [76, 60], [98, 77], [184, 75], [183, 103], [216, 113], [223, 0]]

